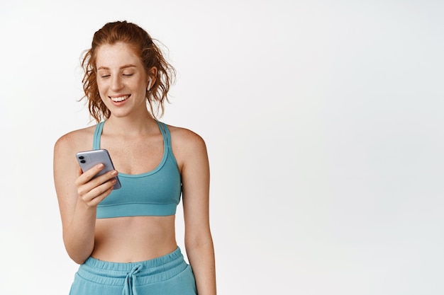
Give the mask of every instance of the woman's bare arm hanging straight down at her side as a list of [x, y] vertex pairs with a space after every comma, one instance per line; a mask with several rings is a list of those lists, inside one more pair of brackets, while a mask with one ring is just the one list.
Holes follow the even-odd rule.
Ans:
[[[180, 148], [185, 220], [185, 248], [199, 295], [216, 294], [216, 266], [209, 224], [209, 160], [199, 135], [184, 131]], [[173, 140], [173, 139], [172, 139]]]

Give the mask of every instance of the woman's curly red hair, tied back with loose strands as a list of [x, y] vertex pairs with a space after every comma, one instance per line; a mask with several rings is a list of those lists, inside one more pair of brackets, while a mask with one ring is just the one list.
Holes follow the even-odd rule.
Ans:
[[145, 73], [149, 72], [153, 66], [157, 68], [155, 83], [150, 91], [147, 91], [147, 101], [150, 105], [151, 114], [156, 117], [160, 112], [160, 117], [164, 113], [164, 102], [168, 102], [167, 93], [170, 86], [174, 83], [176, 71], [169, 64], [159, 46], [155, 44], [157, 40], [152, 37], [143, 28], [127, 21], [116, 21], [106, 23], [100, 30], [94, 33], [91, 42], [91, 48], [82, 54], [82, 68], [84, 76], [82, 79], [84, 97], [88, 100], [89, 114], [94, 117], [96, 122], [106, 120], [111, 112], [101, 100], [99, 87], [97, 86], [96, 54], [101, 45], [113, 45], [117, 42], [125, 42], [133, 47], [135, 53], [140, 57]]

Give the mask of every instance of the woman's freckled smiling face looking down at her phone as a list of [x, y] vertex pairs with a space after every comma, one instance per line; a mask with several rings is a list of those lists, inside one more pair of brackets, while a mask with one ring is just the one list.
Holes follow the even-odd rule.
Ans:
[[97, 86], [111, 116], [126, 117], [147, 110], [148, 75], [126, 43], [101, 45], [96, 53]]

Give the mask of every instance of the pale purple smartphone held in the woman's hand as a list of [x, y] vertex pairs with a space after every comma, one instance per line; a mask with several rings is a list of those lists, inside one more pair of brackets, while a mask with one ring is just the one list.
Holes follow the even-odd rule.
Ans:
[[[104, 164], [105, 167], [99, 173], [94, 175], [94, 178], [111, 170], [114, 170], [113, 162], [111, 161], [111, 157], [109, 156], [109, 153], [108, 151], [106, 151], [106, 149], [79, 151], [76, 156], [77, 161], [79, 162], [79, 166], [80, 168], [82, 168], [82, 171], [89, 170], [99, 163]], [[121, 182], [118, 179], [118, 176], [116, 176], [116, 180], [117, 182], [114, 185], [114, 190], [118, 190], [119, 188], [121, 188]]]

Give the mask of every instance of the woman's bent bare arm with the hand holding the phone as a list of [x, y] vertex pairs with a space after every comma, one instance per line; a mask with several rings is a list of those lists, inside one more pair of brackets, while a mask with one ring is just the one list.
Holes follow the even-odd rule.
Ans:
[[111, 192], [113, 180], [109, 180], [116, 171], [91, 180], [103, 167], [82, 173], [75, 158], [76, 141], [73, 134], [57, 140], [53, 168], [65, 248], [74, 262], [82, 264], [94, 248], [96, 206]]

